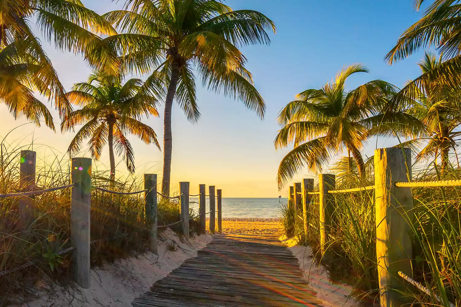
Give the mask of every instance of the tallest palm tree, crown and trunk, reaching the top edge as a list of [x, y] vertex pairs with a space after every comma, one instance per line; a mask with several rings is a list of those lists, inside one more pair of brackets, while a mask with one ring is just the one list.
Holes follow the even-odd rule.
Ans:
[[[130, 10], [128, 10], [130, 8]], [[150, 58], [166, 76], [162, 192], [170, 193], [171, 108], [173, 99], [195, 122], [200, 116], [195, 96], [195, 75], [217, 93], [238, 98], [261, 118], [265, 103], [245, 68], [238, 47], [270, 43], [266, 30], [274, 23], [260, 12], [232, 11], [217, 0], [127, 0], [125, 10], [104, 17], [118, 29], [149, 35], [159, 42]], [[156, 66], [157, 65], [157, 66]]]

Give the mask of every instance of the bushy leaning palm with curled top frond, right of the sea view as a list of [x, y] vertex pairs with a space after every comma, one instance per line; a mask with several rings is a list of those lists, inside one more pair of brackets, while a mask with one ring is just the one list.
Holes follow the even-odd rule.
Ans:
[[[321, 89], [308, 89], [288, 103], [278, 116], [283, 126], [274, 141], [276, 149], [294, 143], [278, 168], [281, 189], [302, 167], [315, 171], [338, 153], [347, 150], [357, 164], [358, 174], [365, 175], [361, 148], [370, 136], [387, 135], [407, 121], [408, 115], [393, 107], [397, 89], [393, 85], [373, 80], [352, 91], [344, 82], [355, 73], [368, 72], [362, 64], [343, 68], [331, 83]], [[408, 133], [404, 130], [403, 133]]]

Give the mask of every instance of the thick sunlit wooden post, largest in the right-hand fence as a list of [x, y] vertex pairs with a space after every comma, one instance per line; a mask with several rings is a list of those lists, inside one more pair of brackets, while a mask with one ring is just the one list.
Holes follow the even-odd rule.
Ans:
[[376, 254], [381, 306], [397, 307], [408, 303], [402, 292], [406, 284], [397, 274], [412, 277], [413, 196], [411, 188], [396, 187], [396, 182], [411, 179], [411, 150], [381, 148], [374, 153]]

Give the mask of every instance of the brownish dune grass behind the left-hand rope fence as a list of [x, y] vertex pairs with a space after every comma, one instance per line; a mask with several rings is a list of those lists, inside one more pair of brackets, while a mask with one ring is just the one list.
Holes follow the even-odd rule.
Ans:
[[[19, 186], [19, 152], [1, 144], [0, 194], [15, 193]], [[51, 163], [38, 161], [36, 185], [43, 188], [68, 185], [68, 158], [56, 156]], [[64, 155], [63, 155], [64, 156]], [[92, 185], [115, 191], [143, 190], [142, 176], [118, 178], [113, 183], [109, 172], [94, 171]], [[58, 255], [71, 246], [71, 189], [47, 192], [35, 197], [35, 208], [25, 218], [18, 211], [18, 198], [0, 199], [0, 272], [30, 261], [34, 265], [0, 276], [0, 306], [8, 306], [19, 297], [27, 297], [37, 284], [71, 285], [71, 253]], [[159, 198], [159, 225], [179, 220], [178, 200]], [[197, 215], [193, 210], [190, 217]], [[196, 232], [198, 219], [190, 221]], [[180, 225], [172, 226], [180, 231]], [[101, 266], [117, 258], [147, 251], [149, 225], [144, 218], [144, 193], [113, 195], [92, 189], [91, 194], [91, 265]]]

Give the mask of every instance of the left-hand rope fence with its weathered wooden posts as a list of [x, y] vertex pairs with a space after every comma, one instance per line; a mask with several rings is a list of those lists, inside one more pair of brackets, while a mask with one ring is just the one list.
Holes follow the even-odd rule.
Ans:
[[[157, 229], [181, 224], [181, 232], [178, 232], [178, 234], [181, 234], [184, 237], [189, 238], [190, 233], [189, 233], [188, 221], [198, 220], [198, 218], [200, 218], [199, 223], [195, 223], [194, 221], [191, 224], [193, 224], [193, 227], [200, 229], [201, 230], [200, 232], [203, 232], [203, 233], [206, 232], [205, 216], [203, 214], [196, 215], [196, 213], [190, 214], [190, 215], [193, 215], [191, 217], [189, 215], [190, 204], [197, 203], [197, 202], [191, 202], [189, 200], [189, 197], [184, 197], [185, 195], [189, 195], [191, 197], [198, 197], [198, 196], [206, 195], [205, 192], [201, 190], [203, 188], [203, 185], [199, 185], [198, 194], [192, 195], [192, 194], [189, 194], [189, 182], [180, 182], [180, 189], [179, 189], [180, 194], [177, 196], [167, 196], [165, 194], [169, 194], [169, 193], [162, 194], [159, 191], [157, 191], [157, 174], [144, 174], [144, 189], [141, 191], [130, 191], [133, 189], [128, 188], [128, 187], [126, 189], [123, 189], [120, 186], [112, 187], [110, 185], [108, 186], [109, 189], [106, 189], [105, 187], [102, 187], [102, 186], [96, 186], [96, 185], [99, 185], [99, 183], [97, 182], [95, 182], [95, 185], [92, 185], [92, 176], [94, 175], [91, 172], [92, 160], [88, 158], [76, 157], [76, 158], [72, 158], [71, 165], [69, 166], [69, 170], [66, 173], [67, 175], [69, 175], [69, 180], [72, 182], [72, 184], [45, 189], [43, 187], [39, 187], [35, 185], [35, 178], [37, 178], [36, 177], [35, 157], [36, 157], [35, 151], [21, 151], [20, 161], [19, 161], [21, 165], [21, 167], [19, 168], [19, 182], [21, 183], [20, 185], [25, 185], [26, 188], [21, 189], [21, 190], [13, 190], [14, 193], [0, 194], [0, 199], [12, 198], [12, 197], [24, 197], [24, 198], [18, 198], [16, 200], [18, 201], [18, 212], [21, 214], [21, 216], [25, 216], [26, 215], [25, 210], [27, 208], [35, 208], [35, 198], [33, 196], [42, 195], [46, 192], [58, 191], [58, 190], [62, 190], [62, 189], [70, 188], [70, 187], [72, 188], [71, 197], [70, 197], [70, 209], [71, 209], [70, 211], [72, 214], [70, 228], [71, 228], [71, 232], [73, 234], [77, 233], [77, 235], [72, 236], [70, 244], [68, 243], [67, 246], [71, 246], [71, 247], [60, 250], [58, 252], [53, 252], [53, 255], [60, 256], [60, 255], [64, 255], [72, 251], [72, 253], [74, 254], [72, 256], [72, 259], [73, 259], [72, 266], [76, 266], [77, 268], [79, 268], [78, 270], [74, 272], [73, 278], [74, 278], [74, 281], [77, 283], [77, 285], [81, 286], [83, 289], [89, 289], [91, 250], [94, 248], [98, 248], [99, 243], [101, 242], [107, 242], [108, 244], [112, 244], [112, 240], [117, 239], [118, 237], [121, 237], [121, 236], [124, 236], [127, 239], [129, 239], [130, 237], [127, 237], [127, 236], [131, 234], [131, 230], [126, 230], [123, 232], [123, 235], [117, 235], [116, 237], [106, 237], [106, 238], [96, 239], [92, 241], [90, 240], [90, 237], [91, 237], [90, 235], [92, 233], [88, 225], [91, 220], [90, 212], [91, 212], [91, 209], [93, 208], [92, 207], [92, 200], [94, 201], [94, 197], [92, 197], [93, 192], [97, 193], [97, 191], [101, 191], [101, 192], [116, 194], [116, 195], [135, 195], [135, 194], [149, 192], [144, 195], [144, 202], [142, 203], [142, 206], [144, 208], [141, 213], [142, 220], [140, 223], [143, 226], [146, 226], [146, 225], [149, 226], [148, 228], [149, 236], [148, 236], [147, 246], [148, 246], [148, 249], [152, 251], [154, 254], [157, 253], [157, 238], [158, 238]], [[27, 168], [24, 168], [23, 165], [27, 165]], [[38, 178], [42, 178], [42, 181], [43, 181], [43, 177], [38, 176]], [[47, 180], [47, 177], [45, 176], [44, 179]], [[47, 184], [44, 184], [44, 185], [47, 185]], [[56, 183], [54, 183], [54, 185], [56, 185]], [[113, 191], [113, 190], [117, 190], [117, 191]], [[213, 186], [213, 190], [214, 190], [214, 186]], [[66, 197], [69, 197], [69, 195], [67, 194], [68, 193], [66, 193]], [[213, 195], [212, 189], [210, 189], [210, 194], [206, 196], [210, 197], [210, 195]], [[162, 220], [162, 214], [160, 214], [162, 210], [161, 209], [159, 210], [158, 196], [164, 197], [165, 199], [181, 199], [180, 202], [174, 202], [175, 206], [179, 205], [180, 207], [179, 208], [180, 214], [179, 214], [178, 221], [171, 223], [171, 224], [158, 226], [158, 220], [159, 219], [160, 221]], [[220, 207], [221, 196], [216, 195], [216, 197], [218, 197], [218, 208], [220, 209], [221, 208]], [[198, 203], [200, 205], [200, 209], [202, 211], [205, 211], [207, 203], [206, 201], [202, 202], [202, 200], [203, 198], [201, 197], [200, 202]], [[214, 199], [212, 200], [214, 201]], [[108, 216], [114, 217], [117, 220], [117, 222], [123, 219], [123, 213], [120, 210], [118, 212], [120, 216], [118, 216], [118, 214], [113, 214], [112, 212], [109, 212], [108, 210], [101, 210], [101, 211], [102, 211], [102, 214], [107, 214]], [[177, 217], [174, 218], [174, 220], [176, 219]], [[220, 220], [220, 217], [219, 217], [219, 220]], [[126, 212], [125, 212], [125, 224], [126, 224]], [[152, 227], [152, 225], [157, 225], [157, 227], [154, 228]], [[219, 226], [219, 232], [220, 232], [221, 231], [220, 224], [218, 224], [218, 226]], [[210, 228], [210, 231], [214, 234], [214, 229]], [[198, 231], [198, 233], [200, 232]], [[117, 242], [117, 240], [115, 242]], [[98, 244], [98, 245], [94, 245], [94, 244]], [[37, 259], [35, 259], [35, 257], [37, 257]], [[4, 263], [3, 266], [1, 266], [2, 269], [6, 269], [8, 267], [11, 267], [11, 268], [6, 269], [4, 271], [0, 271], [0, 278], [6, 274], [24, 270], [31, 266], [37, 266], [37, 267], [44, 266], [46, 264], [46, 261], [47, 261], [46, 256], [44, 255], [40, 256], [40, 253], [38, 253], [37, 255], [36, 253], [31, 253], [29, 255], [22, 257], [20, 262], [18, 261], [18, 264], [20, 264], [21, 262], [25, 262], [25, 263], [20, 264], [18, 266], [15, 266], [17, 264], [16, 262], [7, 263], [7, 266]]]

